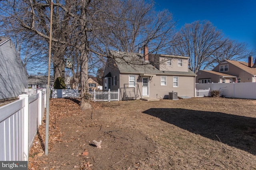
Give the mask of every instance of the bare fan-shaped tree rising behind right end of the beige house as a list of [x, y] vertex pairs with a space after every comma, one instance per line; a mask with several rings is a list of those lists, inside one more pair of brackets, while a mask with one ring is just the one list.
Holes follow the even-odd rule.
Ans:
[[209, 58], [223, 47], [223, 34], [210, 21], [185, 24], [176, 34], [172, 53], [190, 57], [188, 66], [193, 72], [208, 64]]

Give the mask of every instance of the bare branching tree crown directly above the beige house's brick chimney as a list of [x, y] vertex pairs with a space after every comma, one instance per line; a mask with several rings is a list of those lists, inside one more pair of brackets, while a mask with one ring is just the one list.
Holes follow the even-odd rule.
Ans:
[[109, 22], [102, 25], [107, 49], [138, 52], [147, 45], [150, 53], [164, 51], [170, 47], [176, 22], [168, 10], [156, 12], [154, 2], [144, 0], [117, 1], [112, 8]]

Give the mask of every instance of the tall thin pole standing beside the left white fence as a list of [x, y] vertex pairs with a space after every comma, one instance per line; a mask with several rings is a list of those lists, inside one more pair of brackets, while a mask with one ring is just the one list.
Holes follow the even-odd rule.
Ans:
[[52, 8], [53, 8], [53, 2], [51, 1], [48, 84], [46, 86], [46, 116], [45, 116], [45, 145], [44, 145], [45, 155], [48, 155], [48, 141], [49, 141], [50, 66], [51, 66], [51, 49], [52, 49], [52, 13], [53, 13]]

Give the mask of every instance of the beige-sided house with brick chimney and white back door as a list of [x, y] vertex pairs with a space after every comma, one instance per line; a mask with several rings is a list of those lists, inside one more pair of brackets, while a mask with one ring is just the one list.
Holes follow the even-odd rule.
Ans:
[[[188, 57], [110, 51], [103, 76], [103, 90], [136, 91], [139, 98], [163, 99], [169, 92], [195, 96], [196, 74], [188, 69]], [[154, 65], [151, 63], [155, 63]], [[132, 90], [131, 90], [132, 89]]]

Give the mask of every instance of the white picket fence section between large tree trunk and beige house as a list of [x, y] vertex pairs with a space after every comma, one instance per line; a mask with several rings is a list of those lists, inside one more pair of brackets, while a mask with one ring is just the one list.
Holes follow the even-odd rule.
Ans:
[[90, 100], [94, 102], [110, 102], [120, 100], [120, 90], [92, 91], [90, 92]]

